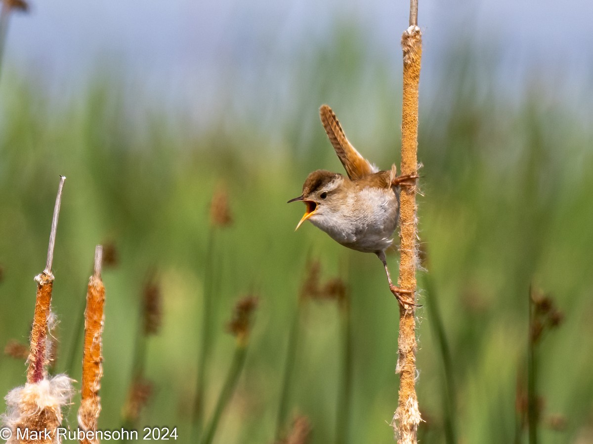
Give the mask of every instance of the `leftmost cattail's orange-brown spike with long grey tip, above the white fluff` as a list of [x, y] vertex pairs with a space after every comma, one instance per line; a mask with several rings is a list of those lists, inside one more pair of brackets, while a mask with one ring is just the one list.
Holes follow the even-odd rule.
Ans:
[[60, 185], [56, 204], [53, 209], [52, 230], [49, 235], [49, 249], [47, 251], [46, 267], [42, 274], [37, 275], [37, 298], [33, 314], [33, 327], [31, 328], [31, 346], [28, 358], [27, 382], [39, 382], [47, 374], [46, 366], [49, 363], [47, 358], [47, 317], [50, 313], [52, 302], [53, 274], [52, 260], [53, 249], [56, 243], [56, 231], [58, 230], [58, 215], [60, 212], [60, 201], [62, 200], [62, 188], [66, 178], [60, 176]]

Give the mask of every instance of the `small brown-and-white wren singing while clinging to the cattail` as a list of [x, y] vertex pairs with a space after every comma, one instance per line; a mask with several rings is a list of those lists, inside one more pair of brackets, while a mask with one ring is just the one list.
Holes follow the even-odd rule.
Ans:
[[307, 206], [295, 231], [308, 220], [345, 247], [375, 253], [385, 267], [389, 288], [397, 300], [401, 304], [415, 305], [409, 296], [412, 291], [391, 282], [385, 249], [393, 242], [398, 223], [399, 186], [413, 185], [418, 176], [398, 176], [395, 165], [389, 171], [378, 170], [346, 139], [329, 106], [322, 105], [319, 114], [347, 177], [323, 169], [307, 176], [302, 194], [288, 201], [302, 201]]

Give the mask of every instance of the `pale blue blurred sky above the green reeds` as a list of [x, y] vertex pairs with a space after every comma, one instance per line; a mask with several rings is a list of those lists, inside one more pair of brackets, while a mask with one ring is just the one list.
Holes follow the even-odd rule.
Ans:
[[[340, 20], [361, 24], [374, 50], [400, 63], [409, 10], [407, 1], [385, 0], [31, 1], [30, 14], [10, 23], [13, 72], [43, 73], [60, 89], [114, 63], [170, 96], [216, 82], [228, 69], [290, 58], [303, 43], [323, 41]], [[592, 22], [591, 1], [420, 0], [423, 69], [434, 74], [439, 57], [470, 41], [495, 50], [503, 66], [566, 73], [566, 82], [578, 84], [591, 76]]]

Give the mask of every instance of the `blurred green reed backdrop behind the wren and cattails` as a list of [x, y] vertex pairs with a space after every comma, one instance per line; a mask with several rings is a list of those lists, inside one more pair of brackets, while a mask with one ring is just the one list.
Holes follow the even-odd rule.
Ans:
[[[401, 77], [390, 64], [367, 60], [361, 39], [346, 33], [302, 59], [291, 65], [298, 65], [298, 75], [287, 81], [289, 94], [275, 97], [280, 101], [275, 108], [266, 108], [274, 101], [269, 99], [253, 104], [247, 115], [235, 115], [232, 104], [240, 98], [229, 88], [206, 128], [161, 109], [149, 97], [126, 92], [126, 83], [116, 76], [96, 78], [85, 91], [58, 101], [33, 76], [4, 73], [0, 345], [11, 338], [27, 342], [33, 276], [45, 263], [58, 175], [63, 174], [68, 179], [53, 292], [61, 321], [58, 371], [65, 370], [75, 340], [94, 246], [113, 244], [117, 251], [117, 263], [103, 273], [101, 429], [120, 427], [139, 300], [147, 274], [155, 269], [164, 314], [160, 334], [146, 344], [145, 377], [153, 393], [138, 424], [176, 426], [179, 440], [190, 442], [209, 202], [224, 184], [234, 221], [216, 233], [206, 420], [235, 347], [225, 332], [232, 307], [248, 293], [258, 294], [260, 305], [244, 372], [214, 442], [272, 442], [288, 334], [311, 257], [321, 261], [324, 278], [341, 276], [349, 286], [349, 442], [393, 442], [388, 423], [397, 406], [398, 307], [381, 263], [373, 255], [346, 250], [310, 224], [294, 233], [303, 208], [285, 202], [300, 194], [310, 170], [341, 170], [318, 123], [317, 109], [324, 102], [363, 155], [384, 169], [398, 164]], [[438, 339], [426, 319], [435, 316], [431, 304], [436, 302], [451, 353], [460, 442], [514, 439], [533, 283], [552, 295], [565, 316], [539, 348], [540, 442], [591, 442], [593, 129], [582, 124], [580, 110], [545, 83], [526, 82], [512, 98], [500, 94], [484, 63], [493, 62], [471, 51], [452, 53], [441, 69], [442, 84], [429, 88], [438, 93], [423, 96], [420, 83], [419, 220], [432, 292], [426, 293], [420, 276], [417, 392], [426, 423], [419, 436], [425, 443], [445, 442], [446, 378]], [[251, 94], [259, 93], [265, 91]], [[278, 112], [283, 100], [286, 112]], [[395, 271], [397, 253], [388, 262]], [[334, 439], [344, 362], [341, 331], [334, 305], [306, 305], [289, 410], [308, 416], [313, 443]], [[81, 355], [81, 346], [78, 350]], [[69, 372], [74, 379], [80, 379], [80, 361], [77, 356]], [[24, 363], [2, 356], [0, 393], [24, 380]], [[562, 430], [548, 425], [553, 415], [564, 419]]]

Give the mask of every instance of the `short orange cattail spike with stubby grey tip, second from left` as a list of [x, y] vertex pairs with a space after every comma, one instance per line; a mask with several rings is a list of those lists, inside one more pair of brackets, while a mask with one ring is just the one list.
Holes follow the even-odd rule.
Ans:
[[[78, 425], [84, 432], [97, 431], [97, 419], [101, 411], [101, 377], [103, 376], [103, 356], [101, 355], [103, 323], [105, 316], [105, 287], [101, 281], [101, 260], [103, 248], [95, 249], [93, 276], [88, 281], [87, 309], [84, 312], [84, 353], [82, 356], [81, 404], [78, 409]], [[81, 444], [98, 443], [98, 439], [87, 439], [94, 433], [85, 433]]]

